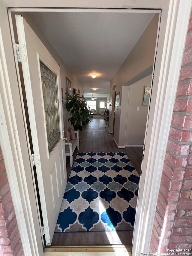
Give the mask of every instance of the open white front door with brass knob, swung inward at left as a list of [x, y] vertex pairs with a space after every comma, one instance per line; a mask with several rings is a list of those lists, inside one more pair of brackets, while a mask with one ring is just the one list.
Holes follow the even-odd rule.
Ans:
[[46, 245], [54, 234], [67, 184], [65, 146], [62, 139], [60, 67], [21, 15], [16, 15], [26, 101]]

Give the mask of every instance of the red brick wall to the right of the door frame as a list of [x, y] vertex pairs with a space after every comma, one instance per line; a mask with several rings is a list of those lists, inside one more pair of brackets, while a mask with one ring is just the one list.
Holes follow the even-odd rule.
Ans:
[[192, 247], [192, 15], [161, 178], [150, 252]]

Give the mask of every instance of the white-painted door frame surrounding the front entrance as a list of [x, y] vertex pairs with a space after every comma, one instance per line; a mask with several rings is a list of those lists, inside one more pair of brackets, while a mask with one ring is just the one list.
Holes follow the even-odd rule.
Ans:
[[[162, 173], [162, 159], [164, 159], [165, 150], [167, 146], [167, 138], [169, 134], [170, 129], [170, 120], [172, 116], [172, 110], [173, 110], [173, 104], [175, 99], [175, 92], [178, 84], [179, 79], [179, 70], [181, 66], [181, 57], [183, 54], [184, 49], [184, 39], [185, 34], [187, 31], [188, 26], [188, 17], [190, 15], [191, 11], [191, 1], [186, 0], [185, 2], [182, 2], [182, 5], [179, 4], [179, 0], [170, 2], [167, 1], [167, 4], [164, 5], [165, 1], [162, 1], [162, 18], [164, 18], [167, 22], [161, 23], [160, 25], [160, 39], [163, 40], [164, 36], [164, 44], [162, 45], [161, 49], [157, 53], [157, 59], [156, 59], [156, 70], [158, 67], [159, 72], [159, 83], [161, 84], [161, 89], [164, 89], [164, 94], [161, 96], [160, 92], [157, 93], [157, 106], [155, 107], [153, 111], [153, 115], [160, 113], [160, 115], [156, 116], [155, 123], [153, 123], [153, 120], [149, 114], [149, 126], [152, 128], [152, 134], [151, 134], [151, 145], [148, 146], [146, 149], [146, 154], [144, 155], [144, 158], [148, 157], [148, 166], [147, 166], [147, 174], [149, 177], [149, 173], [152, 173], [153, 170], [157, 170], [155, 173], [155, 177], [152, 176], [152, 178], [147, 182], [147, 184], [152, 184], [152, 191], [149, 191], [149, 187], [146, 186], [143, 188], [145, 189], [145, 198], [147, 199], [147, 204], [144, 205], [144, 210], [146, 211], [149, 206], [151, 207], [150, 213], [151, 217], [148, 216], [148, 218], [143, 219], [145, 220], [143, 222], [143, 225], [140, 225], [138, 230], [142, 230], [142, 233], [137, 233], [137, 238], [133, 242], [133, 255], [140, 255], [139, 252], [146, 252], [149, 248], [149, 242], [150, 242], [150, 235], [146, 239], [146, 241], [143, 241], [143, 234], [151, 233], [152, 231], [152, 223], [154, 219], [154, 209], [156, 208], [156, 201], [154, 200], [154, 194], [157, 199], [157, 194], [159, 191], [158, 184], [161, 180], [161, 173]], [[5, 164], [6, 164], [6, 170], [7, 170], [7, 176], [9, 179], [9, 184], [11, 191], [16, 191], [16, 193], [12, 193], [12, 198], [16, 211], [17, 221], [18, 221], [18, 227], [19, 232], [22, 238], [23, 248], [26, 255], [43, 255], [43, 245], [38, 243], [38, 236], [39, 231], [37, 233], [32, 234], [34, 230], [34, 225], [37, 222], [37, 209], [34, 205], [32, 205], [31, 197], [34, 197], [34, 191], [30, 193], [29, 197], [29, 184], [25, 184], [23, 181], [20, 180], [19, 175], [24, 176], [25, 173], [23, 173], [24, 165], [27, 165], [29, 167], [30, 161], [28, 158], [28, 162], [23, 158], [23, 147], [26, 146], [26, 138], [23, 138], [23, 140], [19, 140], [20, 138], [20, 130], [18, 129], [18, 116], [14, 113], [14, 107], [18, 102], [15, 102], [15, 95], [13, 94], [13, 89], [17, 91], [18, 95], [18, 85], [17, 85], [17, 78], [16, 78], [16, 71], [14, 67], [14, 58], [13, 58], [13, 49], [11, 45], [11, 36], [7, 31], [9, 31], [9, 20], [7, 17], [7, 10], [6, 7], [2, 2], [1, 3], [1, 14], [0, 15], [0, 22], [2, 22], [2, 26], [0, 26], [0, 58], [1, 58], [1, 66], [2, 66], [2, 78], [0, 80], [0, 92], [2, 98], [0, 98], [0, 105], [2, 106], [1, 111], [1, 120], [4, 119], [3, 123], [4, 125], [1, 125], [1, 147], [4, 152], [5, 156]], [[18, 3], [17, 3], [18, 5]], [[26, 6], [26, 3], [24, 4]], [[121, 3], [119, 3], [119, 6]], [[139, 4], [138, 4], [139, 5]], [[140, 3], [140, 5], [142, 5]], [[145, 5], [145, 3], [144, 3]], [[151, 7], [154, 7], [153, 1], [150, 3]], [[94, 5], [93, 5], [94, 6]], [[122, 6], [122, 5], [121, 5]], [[102, 8], [102, 5], [100, 6]], [[120, 7], [119, 7], [120, 8]], [[138, 8], [140, 8], [138, 6]], [[144, 8], [144, 7], [143, 7]], [[47, 9], [46, 9], [47, 10]], [[18, 9], [14, 9], [14, 11], [18, 11]], [[26, 11], [24, 9], [20, 9], [20, 11]], [[31, 9], [30, 9], [31, 11]], [[37, 9], [35, 9], [37, 11]], [[50, 9], [49, 9], [50, 11]], [[183, 19], [183, 17], [187, 17], [186, 19]], [[176, 32], [176, 33], [175, 33]], [[175, 77], [175, 74], [178, 74], [177, 77]], [[157, 79], [157, 76], [154, 75], [154, 80]], [[157, 81], [156, 81], [157, 82]], [[158, 82], [157, 82], [158, 83]], [[167, 86], [167, 84], [171, 84], [172, 86]], [[17, 86], [17, 88], [16, 88]], [[13, 88], [14, 87], [14, 88]], [[159, 107], [159, 110], [157, 110], [157, 107]], [[20, 108], [21, 110], [21, 108]], [[8, 113], [8, 117], [7, 117]], [[22, 126], [22, 129], [24, 129], [24, 124], [20, 124]], [[157, 135], [157, 132], [155, 133], [154, 129], [158, 129], [159, 135]], [[3, 134], [3, 136], [2, 136]], [[148, 136], [148, 135], [147, 135]], [[163, 138], [163, 139], [162, 139]], [[161, 143], [160, 143], [161, 139]], [[149, 138], [146, 139], [146, 141], [149, 141]], [[7, 141], [10, 141], [10, 144], [7, 146]], [[146, 143], [149, 144], [149, 143]], [[20, 148], [16, 148], [15, 145], [19, 145]], [[157, 147], [158, 145], [158, 147]], [[153, 152], [152, 149], [155, 149]], [[16, 157], [17, 161], [10, 161], [10, 159], [14, 160]], [[9, 159], [7, 161], [6, 159]], [[25, 162], [24, 162], [25, 161]], [[152, 168], [152, 167], [154, 168]], [[12, 177], [16, 177], [17, 179], [13, 179]], [[157, 179], [158, 177], [158, 179]], [[160, 179], [159, 179], [160, 177]], [[141, 188], [140, 188], [141, 189]], [[153, 198], [151, 194], [153, 195]], [[147, 197], [149, 195], [149, 197]], [[34, 203], [34, 200], [33, 200]], [[27, 205], [27, 207], [26, 207]], [[21, 207], [19, 207], [21, 206]], [[32, 211], [33, 209], [33, 211]], [[26, 212], [28, 214], [28, 220], [25, 218]], [[34, 213], [35, 212], [35, 213]], [[141, 213], [141, 215], [143, 212]], [[140, 216], [141, 216], [140, 215]], [[144, 216], [144, 215], [143, 215]], [[140, 217], [141, 218], [141, 217]], [[28, 224], [29, 221], [29, 224]], [[136, 216], [136, 222], [137, 222], [137, 216]], [[141, 223], [141, 221], [140, 221]], [[29, 232], [26, 231], [24, 227], [27, 227], [30, 225]], [[138, 235], [139, 234], [139, 235]], [[40, 234], [41, 236], [41, 234]], [[140, 243], [139, 243], [140, 241]], [[136, 243], [135, 243], [136, 242]], [[138, 247], [138, 248], [137, 248]], [[31, 250], [29, 250], [29, 248]], [[136, 249], [138, 253], [136, 254]], [[35, 253], [34, 253], [35, 252]], [[38, 252], [38, 254], [37, 254]]]

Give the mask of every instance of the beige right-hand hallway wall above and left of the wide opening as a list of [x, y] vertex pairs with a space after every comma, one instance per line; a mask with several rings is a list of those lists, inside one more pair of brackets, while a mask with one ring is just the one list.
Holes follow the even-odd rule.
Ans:
[[[114, 85], [116, 85], [116, 92], [122, 93], [122, 86], [128, 81], [134, 79], [139, 74], [142, 74], [150, 66], [153, 65], [154, 55], [155, 55], [155, 46], [157, 40], [157, 29], [158, 29], [158, 20], [159, 14], [156, 14], [152, 21], [149, 23], [146, 30], [141, 35], [140, 39], [137, 41], [137, 44], [132, 49], [131, 53], [125, 59], [122, 66], [119, 68], [113, 79], [110, 83], [110, 101], [112, 101], [112, 91]], [[150, 73], [149, 73], [150, 74]], [[141, 78], [140, 78], [141, 79]], [[109, 130], [113, 131], [113, 101], [112, 107], [110, 107], [109, 114]], [[121, 102], [121, 115], [127, 117], [127, 102], [125, 100]], [[115, 130], [122, 130], [122, 123], [119, 122], [118, 118], [115, 118]], [[114, 130], [114, 140], [116, 141], [119, 147], [125, 146], [125, 134], [120, 133]], [[119, 135], [117, 135], [119, 134]], [[121, 141], [121, 143], [120, 143]], [[124, 141], [124, 144], [122, 144]]]

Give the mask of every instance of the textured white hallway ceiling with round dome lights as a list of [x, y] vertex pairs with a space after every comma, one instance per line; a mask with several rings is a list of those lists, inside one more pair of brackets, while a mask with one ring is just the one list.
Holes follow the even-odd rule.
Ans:
[[108, 12], [29, 15], [90, 97], [109, 94], [110, 81], [154, 17], [152, 13]]

